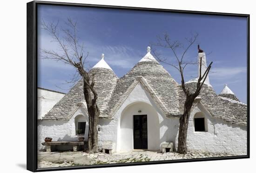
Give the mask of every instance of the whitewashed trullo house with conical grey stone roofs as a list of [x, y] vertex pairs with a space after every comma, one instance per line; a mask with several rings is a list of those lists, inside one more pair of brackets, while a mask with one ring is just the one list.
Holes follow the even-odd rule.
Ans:
[[[205, 53], [199, 53], [200, 56], [206, 67]], [[99, 149], [111, 152], [177, 149], [179, 116], [185, 95], [181, 85], [152, 56], [150, 47], [121, 78], [108, 66], [104, 54], [90, 73], [95, 73], [101, 111]], [[191, 90], [195, 85], [196, 79], [186, 83]], [[38, 97], [42, 101], [53, 93], [41, 92]], [[55, 105], [38, 116], [39, 150], [45, 149], [41, 145], [45, 137], [53, 141], [77, 141], [79, 128], [87, 140], [88, 113], [82, 82], [79, 81], [64, 97], [58, 94], [62, 93], [52, 97]], [[247, 105], [241, 103], [228, 86], [218, 95], [207, 78], [191, 110], [188, 150], [246, 154]]]

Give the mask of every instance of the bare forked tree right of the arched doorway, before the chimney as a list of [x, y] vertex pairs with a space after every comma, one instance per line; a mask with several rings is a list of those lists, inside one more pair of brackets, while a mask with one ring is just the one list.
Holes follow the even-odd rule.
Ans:
[[[186, 100], [184, 103], [184, 112], [181, 115], [179, 122], [180, 122], [180, 126], [179, 126], [179, 136], [178, 136], [178, 153], [187, 153], [187, 131], [188, 131], [188, 125], [189, 125], [189, 115], [190, 115], [190, 111], [191, 111], [191, 107], [193, 105], [193, 102], [195, 100], [195, 98], [199, 95], [201, 88], [203, 86], [204, 81], [206, 80], [208, 73], [210, 71], [212, 62], [210, 62], [209, 66], [206, 68], [205, 72], [202, 74], [202, 57], [200, 57], [200, 62], [185, 62], [184, 61], [184, 57], [186, 55], [186, 53], [188, 52], [189, 48], [195, 43], [196, 39], [198, 37], [198, 34], [196, 33], [195, 35], [193, 35], [191, 38], [186, 38], [187, 42], [188, 42], [188, 46], [184, 47], [183, 44], [181, 44], [179, 41], [172, 41], [168, 35], [168, 33], [164, 33], [163, 37], [158, 36], [158, 42], [156, 44], [153, 44], [153, 46], [159, 46], [159, 47], [165, 47], [171, 50], [171, 52], [174, 54], [175, 59], [177, 64], [172, 64], [172, 63], [168, 63], [166, 60], [167, 59], [162, 59], [161, 58], [161, 54], [157, 53], [154, 49], [153, 49], [153, 53], [155, 54], [156, 58], [163, 62], [166, 63], [172, 67], [175, 67], [175, 69], [177, 69], [181, 75], [181, 86], [182, 86], [182, 90], [186, 95]], [[182, 48], [182, 53], [180, 56], [178, 56], [177, 53], [177, 48]], [[198, 52], [201, 53], [203, 52], [198, 45]], [[197, 81], [197, 85], [196, 85], [196, 89], [194, 92], [191, 92], [189, 90], [188, 87], [185, 86], [185, 82], [184, 82], [184, 69], [187, 65], [189, 64], [197, 64], [199, 63], [199, 76], [198, 76], [198, 81]]]

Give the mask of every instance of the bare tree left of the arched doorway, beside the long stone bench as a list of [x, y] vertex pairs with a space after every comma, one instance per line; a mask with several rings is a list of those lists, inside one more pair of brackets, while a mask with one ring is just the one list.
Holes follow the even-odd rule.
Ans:
[[[51, 59], [56, 61], [62, 61], [65, 64], [71, 65], [76, 69], [76, 72], [80, 74], [83, 80], [83, 94], [87, 104], [88, 117], [89, 117], [89, 132], [88, 132], [88, 145], [87, 152], [95, 153], [98, 146], [98, 119], [100, 110], [97, 106], [98, 94], [94, 89], [94, 75], [90, 74], [85, 69], [85, 60], [88, 57], [88, 53], [83, 57], [84, 44], [80, 44], [77, 31], [77, 22], [67, 19], [67, 27], [59, 28], [59, 22], [54, 24], [53, 22], [45, 23], [41, 22], [41, 26], [45, 29], [53, 38], [53, 41], [57, 43], [60, 50], [46, 50], [42, 49], [42, 59]], [[73, 80], [74, 81], [74, 80]]]

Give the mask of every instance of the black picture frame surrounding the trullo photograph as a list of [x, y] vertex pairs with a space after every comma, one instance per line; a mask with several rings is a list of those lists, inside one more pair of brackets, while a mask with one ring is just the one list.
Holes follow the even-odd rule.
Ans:
[[[166, 13], [187, 13], [187, 14], [207, 14], [220, 16], [234, 16], [247, 18], [247, 155], [244, 156], [229, 156], [218, 158], [203, 158], [203, 159], [186, 159], [186, 160], [165, 160], [154, 162], [137, 162], [137, 163], [121, 163], [121, 164], [106, 164], [106, 165], [90, 165], [90, 166], [70, 166], [70, 167], [54, 167], [54, 168], [37, 168], [37, 6], [53, 5], [53, 6], [72, 6], [72, 7], [92, 7], [92, 8], [108, 8], [108, 9], [126, 9], [137, 11], [150, 12], [166, 12]], [[64, 2], [47, 2], [47, 1], [32, 1], [27, 3], [27, 170], [32, 172], [40, 171], [56, 171], [98, 167], [114, 167], [114, 166], [134, 166], [148, 164], [164, 164], [177, 162], [194, 162], [206, 160], [229, 160], [249, 158], [249, 14], [237, 13], [214, 13], [202, 11], [185, 11], [171, 9], [156, 9], [143, 7], [119, 7], [105, 6], [93, 4], [78, 4]]]

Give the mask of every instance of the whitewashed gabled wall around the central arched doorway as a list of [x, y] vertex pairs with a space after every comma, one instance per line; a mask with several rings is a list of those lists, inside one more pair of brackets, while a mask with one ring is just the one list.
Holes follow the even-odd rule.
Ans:
[[[141, 110], [141, 113], [138, 113], [138, 110]], [[99, 133], [99, 144], [111, 140], [115, 144], [115, 151], [131, 151], [134, 114], [148, 114], [149, 149], [158, 150], [162, 142], [175, 141], [177, 134], [175, 125], [178, 119], [166, 118], [149, 93], [138, 83], [115, 113], [113, 120], [100, 120], [102, 131]]]

